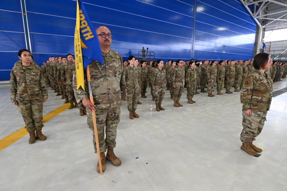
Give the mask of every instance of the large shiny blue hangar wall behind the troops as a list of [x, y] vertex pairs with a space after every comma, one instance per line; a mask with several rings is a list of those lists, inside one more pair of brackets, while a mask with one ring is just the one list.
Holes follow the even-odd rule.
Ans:
[[[76, 1], [22, 1], [34, 61], [41, 65], [50, 56], [73, 54]], [[110, 29], [112, 49], [123, 59], [137, 56], [143, 46], [164, 61], [252, 59], [256, 23], [239, 0], [83, 2], [94, 28]], [[21, 0], [2, 0], [1, 5], [0, 80], [9, 80], [17, 52], [26, 48], [26, 41]]]

